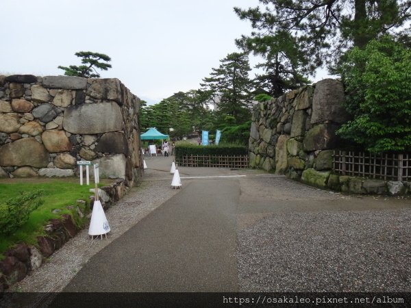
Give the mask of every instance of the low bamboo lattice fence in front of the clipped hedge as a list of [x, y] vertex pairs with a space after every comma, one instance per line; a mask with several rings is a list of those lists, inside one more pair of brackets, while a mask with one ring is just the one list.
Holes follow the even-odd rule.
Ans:
[[183, 155], [175, 162], [183, 167], [249, 168], [248, 155]]

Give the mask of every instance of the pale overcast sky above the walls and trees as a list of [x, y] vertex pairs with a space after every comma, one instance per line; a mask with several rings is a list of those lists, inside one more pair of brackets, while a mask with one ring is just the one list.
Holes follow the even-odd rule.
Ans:
[[[0, 74], [64, 75], [77, 51], [105, 53], [140, 99], [199, 88], [251, 26], [233, 11], [258, 0], [1, 0]], [[326, 76], [317, 74], [316, 80]]]

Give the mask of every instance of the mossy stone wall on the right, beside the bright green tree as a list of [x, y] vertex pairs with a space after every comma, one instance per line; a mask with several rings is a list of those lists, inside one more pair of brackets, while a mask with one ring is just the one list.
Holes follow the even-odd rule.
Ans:
[[251, 167], [292, 179], [304, 179], [305, 170], [329, 173], [336, 129], [348, 119], [344, 99], [341, 81], [324, 79], [258, 103], [249, 140]]

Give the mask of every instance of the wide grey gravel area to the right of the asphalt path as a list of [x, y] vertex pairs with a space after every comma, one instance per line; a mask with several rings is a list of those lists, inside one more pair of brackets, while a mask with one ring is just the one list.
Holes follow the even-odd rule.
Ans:
[[242, 185], [242, 209], [242, 292], [411, 291], [408, 198], [345, 196], [264, 179], [256, 190]]

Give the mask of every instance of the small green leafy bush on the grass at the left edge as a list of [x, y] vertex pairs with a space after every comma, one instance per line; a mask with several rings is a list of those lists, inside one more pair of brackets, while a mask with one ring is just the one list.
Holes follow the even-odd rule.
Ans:
[[25, 224], [30, 213], [44, 203], [39, 198], [42, 194], [42, 190], [22, 192], [21, 196], [0, 203], [0, 234], [9, 235]]

